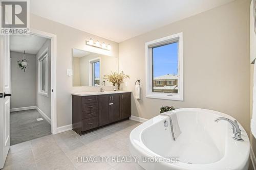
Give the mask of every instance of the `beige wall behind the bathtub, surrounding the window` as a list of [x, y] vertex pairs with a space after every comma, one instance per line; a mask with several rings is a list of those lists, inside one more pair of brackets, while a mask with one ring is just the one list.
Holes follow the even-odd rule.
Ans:
[[[142, 99], [132, 97], [132, 115], [152, 118], [162, 105], [212, 109], [238, 119], [249, 134], [249, 7], [249, 0], [234, 1], [121, 42], [119, 70], [131, 76], [124, 89], [134, 91], [141, 80]], [[145, 98], [145, 42], [180, 32], [184, 101]]]

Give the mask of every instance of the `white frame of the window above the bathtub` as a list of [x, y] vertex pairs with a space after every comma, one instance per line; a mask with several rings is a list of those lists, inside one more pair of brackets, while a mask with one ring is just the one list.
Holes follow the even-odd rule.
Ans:
[[[179, 51], [179, 67], [178, 67], [179, 90], [178, 92], [179, 93], [153, 92], [152, 90], [153, 89], [153, 81], [152, 81], [153, 58], [152, 58], [152, 50], [151, 48], [148, 48], [148, 45], [166, 42], [174, 38], [179, 38], [179, 43], [178, 43], [178, 51]], [[159, 38], [150, 42], [146, 42], [145, 43], [145, 60], [146, 60], [146, 98], [183, 101], [183, 36], [182, 36], [182, 32], [178, 34], [170, 35], [167, 37]]]

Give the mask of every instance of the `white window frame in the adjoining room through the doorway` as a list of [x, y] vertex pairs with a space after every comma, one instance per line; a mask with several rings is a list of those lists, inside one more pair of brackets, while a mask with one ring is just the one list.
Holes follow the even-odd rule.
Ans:
[[[42, 90], [42, 74], [41, 74], [41, 61], [45, 59], [46, 60], [46, 90]], [[44, 50], [40, 57], [38, 58], [38, 94], [44, 95], [47, 98], [49, 97], [49, 62], [48, 62], [48, 48]]]

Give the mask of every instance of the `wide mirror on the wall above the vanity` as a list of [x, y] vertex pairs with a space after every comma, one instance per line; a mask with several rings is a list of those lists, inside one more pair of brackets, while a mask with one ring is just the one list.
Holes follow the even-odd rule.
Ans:
[[72, 49], [73, 86], [113, 86], [104, 75], [118, 71], [118, 58]]

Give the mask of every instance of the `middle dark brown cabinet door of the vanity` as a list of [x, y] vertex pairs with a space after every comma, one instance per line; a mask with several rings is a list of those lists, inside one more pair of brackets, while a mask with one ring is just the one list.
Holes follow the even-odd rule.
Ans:
[[110, 95], [110, 119], [111, 122], [120, 120], [120, 94]]

